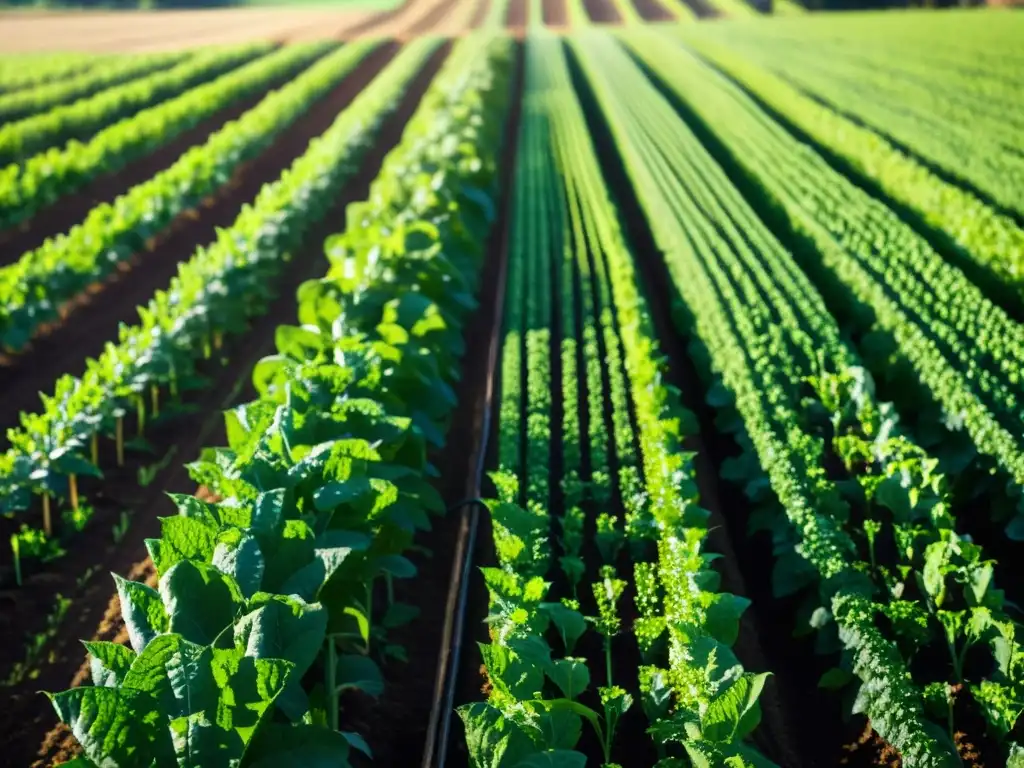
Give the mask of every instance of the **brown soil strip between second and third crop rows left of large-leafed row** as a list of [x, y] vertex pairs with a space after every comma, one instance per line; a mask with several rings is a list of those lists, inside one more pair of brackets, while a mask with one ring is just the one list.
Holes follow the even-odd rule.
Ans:
[[224, 125], [237, 120], [254, 108], [270, 90], [295, 77], [298, 70], [267, 83], [265, 90], [227, 105], [199, 125], [185, 130], [170, 143], [129, 163], [119, 171], [100, 176], [82, 189], [60, 198], [15, 229], [0, 232], [0, 266], [10, 264], [28, 251], [39, 248], [47, 238], [61, 234], [81, 223], [89, 211], [100, 203], [110, 203], [130, 187], [153, 178], [169, 168], [190, 147], [204, 143], [209, 136]]

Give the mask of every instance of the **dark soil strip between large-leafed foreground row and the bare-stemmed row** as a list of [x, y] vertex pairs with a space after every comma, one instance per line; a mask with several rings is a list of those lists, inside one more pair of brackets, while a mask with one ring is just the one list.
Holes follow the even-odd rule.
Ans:
[[[387, 55], [393, 55], [393, 51], [394, 47], [391, 47]], [[52, 710], [46, 698], [37, 691], [59, 690], [73, 680], [81, 683], [87, 679], [86, 675], [81, 674], [83, 653], [78, 638], [125, 639], [120, 632], [122, 625], [118, 613], [112, 609], [117, 599], [112, 599], [113, 585], [109, 581], [108, 571], [133, 572], [136, 578], [141, 579], [151, 572], [144, 539], [152, 538], [159, 531], [158, 515], [174, 514], [173, 506], [165, 498], [165, 493], [195, 490], [195, 483], [190, 482], [184, 470], [184, 462], [195, 458], [205, 445], [223, 443], [221, 411], [253, 394], [250, 383], [253, 365], [273, 351], [276, 327], [295, 322], [295, 291], [303, 281], [324, 273], [324, 239], [337, 231], [339, 222], [344, 221], [344, 207], [348, 203], [366, 198], [370, 182], [376, 177], [386, 154], [400, 138], [406, 123], [419, 104], [444, 53], [444, 49], [439, 50], [411, 84], [398, 110], [388, 119], [374, 147], [360, 164], [360, 170], [338, 195], [333, 211], [314, 227], [306, 238], [305, 246], [296, 253], [295, 260], [282, 279], [281, 294], [270, 311], [255, 322], [251, 331], [240, 340], [237, 348], [231, 351], [230, 362], [213, 376], [213, 385], [202, 393], [202, 401], [198, 403], [196, 412], [190, 417], [168, 424], [166, 433], [153, 435], [152, 439], [161, 446], [177, 447], [168, 469], [158, 475], [156, 481], [144, 490], [139, 488], [132, 473], [129, 472], [123, 478], [120, 493], [124, 494], [124, 498], [117, 502], [122, 509], [133, 512], [132, 526], [127, 537], [117, 547], [104, 546], [104, 538], [109, 543], [108, 528], [104, 525], [91, 526], [83, 532], [83, 538], [76, 541], [69, 556], [55, 563], [45, 582], [37, 585], [32, 592], [23, 590], [13, 595], [2, 593], [8, 600], [22, 601], [17, 603], [16, 610], [5, 610], [5, 615], [17, 614], [17, 626], [9, 628], [12, 636], [15, 631], [36, 631], [43, 621], [42, 614], [48, 609], [43, 599], [44, 591], [49, 592], [51, 599], [61, 589], [66, 594], [75, 594], [76, 598], [60, 628], [58, 639], [47, 647], [47, 660], [39, 669], [38, 678], [13, 689], [10, 696], [13, 706], [5, 708], [0, 715], [0, 738], [5, 742], [12, 764], [28, 765], [37, 760], [34, 765], [49, 765], [57, 758], [67, 759], [77, 752], [77, 745], [68, 730], [61, 725], [52, 727]], [[360, 80], [348, 80], [349, 96], [354, 97], [375, 73], [376, 71], [364, 70]], [[337, 103], [335, 108], [336, 115], [340, 108]], [[312, 119], [312, 113], [307, 119]], [[105, 466], [112, 464], [113, 461]], [[116, 488], [117, 482], [108, 479], [103, 487], [108, 486]], [[129, 498], [129, 494], [134, 496]], [[88, 537], [92, 541], [88, 541]], [[97, 557], [97, 552], [102, 554]], [[96, 574], [76, 591], [76, 580], [90, 566], [98, 568]], [[29, 606], [26, 601], [36, 604]], [[30, 616], [35, 618], [34, 626], [25, 626], [32, 623], [23, 621], [23, 617]], [[12, 642], [20, 647], [19, 640]]]

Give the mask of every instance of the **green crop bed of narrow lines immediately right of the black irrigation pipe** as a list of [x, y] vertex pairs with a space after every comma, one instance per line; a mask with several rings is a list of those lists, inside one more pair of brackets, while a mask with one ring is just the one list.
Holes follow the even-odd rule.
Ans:
[[[714, 556], [701, 552], [709, 513], [681, 446], [694, 420], [662, 381], [652, 322], [558, 38], [530, 36], [524, 89], [499, 500], [488, 505], [499, 567], [483, 569], [488, 695], [460, 709], [472, 765], [583, 766], [589, 724], [601, 763], [612, 766], [622, 746], [639, 746], [615, 745], [626, 718], [651, 728], [658, 766], [690, 764], [684, 755], [695, 765], [771, 765], [742, 741], [760, 719], [767, 675], [744, 673], [730, 650], [748, 603], [717, 592]], [[559, 404], [562, 476], [552, 478]], [[549, 511], [552, 480], [561, 485], [558, 515]], [[622, 614], [634, 612], [624, 627]], [[613, 677], [612, 657], [633, 644], [624, 633], [639, 654], [635, 669]], [[604, 684], [592, 692], [592, 681]]]

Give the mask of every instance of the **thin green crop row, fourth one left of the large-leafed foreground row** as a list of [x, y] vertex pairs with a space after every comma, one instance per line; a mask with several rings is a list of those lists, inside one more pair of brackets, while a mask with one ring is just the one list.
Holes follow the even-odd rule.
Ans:
[[89, 98], [58, 104], [0, 127], [0, 165], [20, 163], [37, 153], [60, 153], [61, 144], [90, 139], [100, 130], [140, 110], [180, 95], [211, 77], [267, 52], [265, 43], [214, 49], [188, 56], [165, 72], [124, 83]]

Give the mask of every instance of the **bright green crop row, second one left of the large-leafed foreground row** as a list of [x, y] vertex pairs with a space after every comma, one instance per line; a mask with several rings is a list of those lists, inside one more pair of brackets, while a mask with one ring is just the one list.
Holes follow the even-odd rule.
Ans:
[[[67, 234], [0, 268], [0, 345], [23, 349], [41, 325], [58, 317], [67, 301], [140, 252], [183, 211], [215, 194], [236, 169], [270, 146], [377, 45], [356, 42], [325, 56], [168, 169], [96, 206]], [[291, 57], [281, 61], [285, 71], [306, 63], [323, 47], [288, 51]]]

